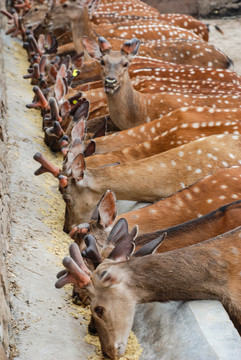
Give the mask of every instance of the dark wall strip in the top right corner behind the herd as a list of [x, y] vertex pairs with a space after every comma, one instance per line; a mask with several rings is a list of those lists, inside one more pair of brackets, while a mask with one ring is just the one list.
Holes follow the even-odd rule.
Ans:
[[224, 16], [241, 14], [237, 0], [143, 0], [162, 13], [183, 13], [194, 16]]

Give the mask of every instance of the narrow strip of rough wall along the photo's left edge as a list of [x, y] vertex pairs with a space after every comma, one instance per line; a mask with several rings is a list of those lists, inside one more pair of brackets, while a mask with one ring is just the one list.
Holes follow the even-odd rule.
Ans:
[[[1, 0], [0, 8], [3, 8]], [[3, 27], [2, 16], [0, 16], [0, 28]], [[0, 38], [0, 49], [2, 49]], [[8, 280], [6, 272], [6, 254], [8, 251], [9, 229], [10, 229], [10, 199], [8, 191], [8, 171], [6, 153], [6, 94], [4, 64], [2, 52], [0, 52], [0, 359], [7, 359], [6, 354], [9, 348], [9, 296]]]

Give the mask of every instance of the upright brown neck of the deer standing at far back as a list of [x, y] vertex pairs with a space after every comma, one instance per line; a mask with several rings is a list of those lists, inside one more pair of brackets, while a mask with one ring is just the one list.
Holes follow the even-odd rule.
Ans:
[[[80, 18], [71, 19], [70, 24], [74, 47], [77, 53], [80, 54], [84, 51], [84, 45], [82, 42], [83, 36], [88, 36], [90, 38], [96, 39], [96, 35], [94, 33], [94, 30], [92, 29], [92, 24], [89, 19], [87, 8], [84, 7]], [[85, 60], [89, 60], [89, 57], [86, 56]]]

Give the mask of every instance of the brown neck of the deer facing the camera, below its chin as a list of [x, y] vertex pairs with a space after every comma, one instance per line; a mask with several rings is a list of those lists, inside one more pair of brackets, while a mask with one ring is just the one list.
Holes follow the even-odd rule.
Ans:
[[107, 94], [113, 123], [121, 130], [139, 125], [140, 119], [147, 117], [142, 98], [143, 95], [133, 89], [129, 74], [126, 72], [120, 90], [113, 95]]

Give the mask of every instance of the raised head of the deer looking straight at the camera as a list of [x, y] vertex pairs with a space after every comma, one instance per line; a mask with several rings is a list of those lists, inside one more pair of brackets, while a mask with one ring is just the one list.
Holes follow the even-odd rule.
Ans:
[[111, 44], [103, 37], [99, 37], [98, 41], [99, 45], [88, 37], [83, 38], [86, 51], [101, 65], [105, 92], [113, 95], [129, 77], [128, 67], [138, 53], [140, 40], [133, 38], [126, 41], [120, 51], [111, 50]]

